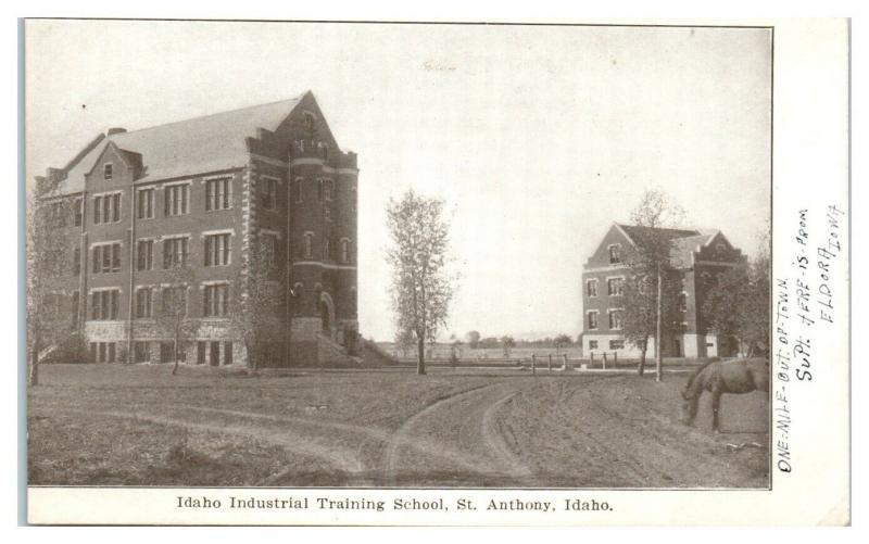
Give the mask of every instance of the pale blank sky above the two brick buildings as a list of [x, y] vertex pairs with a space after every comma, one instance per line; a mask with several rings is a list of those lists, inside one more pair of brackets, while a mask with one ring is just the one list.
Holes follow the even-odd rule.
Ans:
[[[26, 178], [134, 130], [311, 89], [358, 153], [358, 312], [389, 340], [386, 206], [446, 202], [442, 338], [576, 337], [582, 264], [646, 189], [756, 251], [769, 219], [770, 31], [29, 21]], [[146, 157], [147, 161], [147, 157]]]

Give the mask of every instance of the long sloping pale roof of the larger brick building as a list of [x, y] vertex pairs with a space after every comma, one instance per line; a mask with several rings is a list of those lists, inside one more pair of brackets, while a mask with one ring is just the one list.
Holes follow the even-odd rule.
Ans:
[[131, 161], [136, 159], [130, 155], [138, 154], [138, 161], [144, 163], [143, 178], [147, 179], [169, 179], [244, 166], [248, 162], [245, 138], [256, 137], [260, 128], [277, 129], [305, 94], [109, 135], [84, 153], [79, 161], [71, 162], [66, 178], [47, 197], [83, 191], [85, 174], [91, 170], [109, 142], [114, 142]]

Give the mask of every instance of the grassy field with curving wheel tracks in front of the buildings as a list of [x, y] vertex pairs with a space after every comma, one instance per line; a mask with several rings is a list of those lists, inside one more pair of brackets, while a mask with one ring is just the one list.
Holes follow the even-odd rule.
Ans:
[[[767, 402], [679, 421], [687, 375], [46, 365], [30, 484], [764, 488]], [[757, 444], [757, 445], [755, 445]]]

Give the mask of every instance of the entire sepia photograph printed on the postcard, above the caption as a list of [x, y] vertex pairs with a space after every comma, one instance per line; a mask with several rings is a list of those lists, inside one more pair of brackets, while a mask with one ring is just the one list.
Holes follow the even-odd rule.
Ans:
[[770, 488], [772, 28], [24, 31], [28, 485]]

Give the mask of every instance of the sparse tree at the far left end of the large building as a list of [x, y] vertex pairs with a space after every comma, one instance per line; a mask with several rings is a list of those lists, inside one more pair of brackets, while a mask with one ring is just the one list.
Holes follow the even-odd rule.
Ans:
[[29, 383], [39, 383], [39, 356], [47, 346], [63, 342], [73, 330], [63, 312], [62, 276], [70, 248], [62, 229], [72, 213], [68, 202], [47, 203], [37, 190], [27, 192], [27, 344]]

